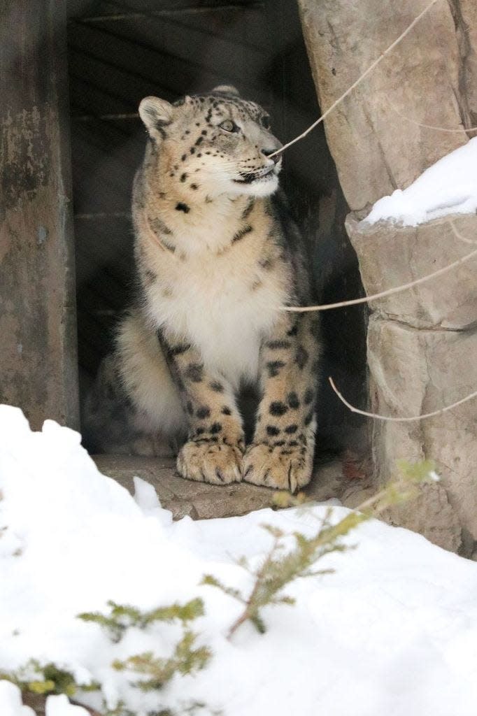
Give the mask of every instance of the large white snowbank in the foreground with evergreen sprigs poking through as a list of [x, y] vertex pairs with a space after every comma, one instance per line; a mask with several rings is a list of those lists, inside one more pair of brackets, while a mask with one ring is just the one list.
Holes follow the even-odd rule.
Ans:
[[[335, 573], [285, 590], [296, 606], [264, 610], [266, 634], [249, 624], [226, 634], [241, 605], [203, 574], [248, 593], [236, 563], [258, 563], [271, 542], [266, 523], [312, 534], [327, 508], [210, 521], [173, 522], [153, 488], [135, 480], [136, 499], [101, 475], [80, 436], [52, 421], [32, 432], [21, 411], [0, 406], [0, 672], [29, 659], [55, 662], [78, 682], [97, 679], [102, 695], [77, 700], [100, 708], [119, 700], [137, 716], [203, 702], [224, 716], [475, 716], [477, 565], [423, 537], [370, 521], [352, 533], [357, 548], [327, 556]], [[347, 513], [333, 508], [334, 518]], [[200, 596], [193, 622], [213, 657], [203, 671], [176, 676], [157, 694], [132, 687], [114, 659], [170, 654], [173, 624], [130, 629], [113, 644], [82, 611], [106, 601], [141, 609]], [[32, 716], [18, 690], [0, 682], [1, 716]], [[50, 696], [47, 716], [85, 716]]]

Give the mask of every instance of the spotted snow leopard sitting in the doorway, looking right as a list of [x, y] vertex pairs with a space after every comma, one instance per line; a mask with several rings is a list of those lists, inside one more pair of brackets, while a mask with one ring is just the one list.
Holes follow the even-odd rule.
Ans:
[[314, 314], [286, 310], [309, 302], [310, 276], [279, 189], [281, 143], [267, 112], [226, 85], [173, 104], [145, 97], [139, 114], [138, 291], [90, 400], [98, 448], [173, 439], [183, 478], [295, 492], [312, 476], [320, 339]]

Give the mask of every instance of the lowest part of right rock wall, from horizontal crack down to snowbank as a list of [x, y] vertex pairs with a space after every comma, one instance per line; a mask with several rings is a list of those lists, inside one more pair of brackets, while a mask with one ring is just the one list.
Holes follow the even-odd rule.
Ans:
[[[476, 390], [477, 332], [415, 329], [372, 316], [368, 329], [371, 410], [407, 417], [439, 410]], [[394, 511], [393, 521], [448, 549], [460, 545], [461, 527], [477, 539], [477, 405], [416, 422], [374, 422], [377, 478], [395, 460], [432, 458], [442, 482]]]

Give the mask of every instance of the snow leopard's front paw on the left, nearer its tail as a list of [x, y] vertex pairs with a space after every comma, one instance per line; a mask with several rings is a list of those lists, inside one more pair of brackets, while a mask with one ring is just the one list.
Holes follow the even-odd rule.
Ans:
[[210, 440], [189, 440], [177, 458], [178, 473], [188, 480], [211, 485], [239, 483], [242, 479], [242, 452], [236, 445]]

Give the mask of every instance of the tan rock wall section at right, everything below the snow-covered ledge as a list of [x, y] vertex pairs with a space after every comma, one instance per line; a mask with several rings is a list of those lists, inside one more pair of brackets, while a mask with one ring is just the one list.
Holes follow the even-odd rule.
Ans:
[[[475, 216], [450, 218], [461, 236], [477, 237]], [[445, 218], [413, 228], [349, 217], [346, 226], [368, 295], [414, 281], [472, 248]], [[410, 291], [372, 302], [367, 335], [372, 412], [423, 415], [476, 390], [476, 269], [474, 258]], [[445, 548], [471, 553], [477, 540], [476, 403], [416, 422], [373, 421], [372, 446], [380, 482], [400, 458], [433, 458], [442, 476], [415, 503], [391, 511], [390, 521]]]

